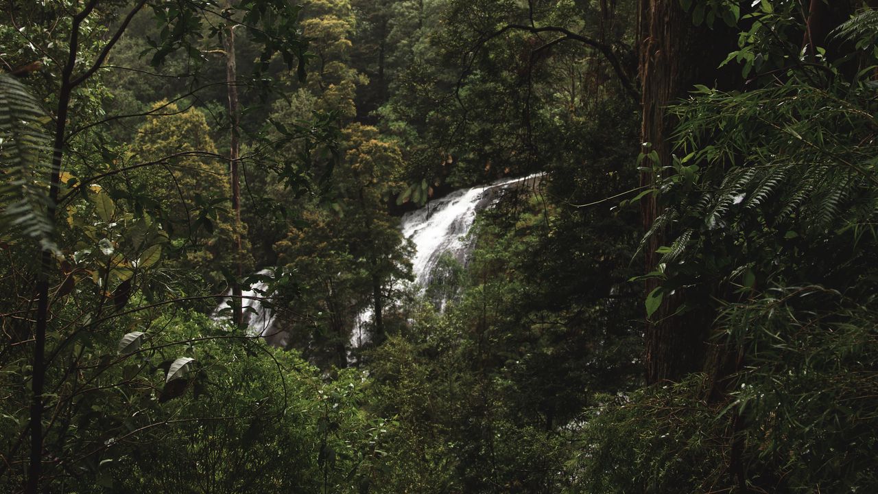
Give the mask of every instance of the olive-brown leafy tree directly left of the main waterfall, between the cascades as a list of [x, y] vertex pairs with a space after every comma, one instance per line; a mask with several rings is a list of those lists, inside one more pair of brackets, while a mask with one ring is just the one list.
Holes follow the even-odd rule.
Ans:
[[410, 276], [405, 243], [385, 209], [399, 187], [399, 148], [382, 141], [374, 127], [353, 124], [342, 136], [344, 158], [327, 192], [331, 206], [312, 205], [275, 245], [279, 262], [301, 280], [300, 311], [314, 315], [318, 336], [328, 336], [340, 367], [347, 365], [356, 316], [371, 306], [372, 337], [379, 343], [385, 292]]

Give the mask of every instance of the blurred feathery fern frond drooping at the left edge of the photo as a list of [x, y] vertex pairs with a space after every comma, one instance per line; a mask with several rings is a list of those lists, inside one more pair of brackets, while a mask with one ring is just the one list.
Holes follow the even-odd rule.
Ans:
[[0, 75], [0, 231], [11, 237], [18, 231], [39, 241], [43, 250], [57, 252], [54, 222], [47, 214], [46, 157], [51, 148], [42, 129], [45, 121], [25, 85]]

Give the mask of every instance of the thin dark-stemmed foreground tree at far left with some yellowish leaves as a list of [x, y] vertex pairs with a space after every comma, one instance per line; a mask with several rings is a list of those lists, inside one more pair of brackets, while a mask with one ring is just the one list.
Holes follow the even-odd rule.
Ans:
[[[29, 254], [31, 259], [37, 257], [40, 262], [34, 264], [25, 261], [22, 263], [25, 266], [23, 270], [10, 266], [10, 280], [14, 287], [35, 286], [35, 290], [27, 290], [35, 295], [27, 297], [23, 306], [21, 301], [15, 302], [16, 307], [21, 306], [22, 314], [27, 315], [25, 320], [33, 321], [26, 331], [30, 338], [25, 338], [32, 342], [28, 345], [31, 372], [22, 381], [23, 385], [29, 385], [30, 412], [21, 421], [24, 426], [18, 431], [18, 442], [11, 445], [11, 454], [18, 454], [22, 441], [29, 434], [30, 448], [27, 460], [23, 462], [27, 465], [25, 491], [28, 493], [42, 490], [46, 479], [52, 478], [44, 472], [44, 463], [52, 466], [46, 461], [47, 448], [66, 454], [62, 451], [68, 448], [65, 438], [71, 420], [70, 412], [76, 409], [69, 408], [71, 400], [79, 393], [90, 392], [89, 383], [104, 371], [104, 367], [97, 366], [92, 360], [97, 359], [95, 353], [86, 352], [87, 346], [74, 345], [74, 341], [82, 338], [83, 334], [100, 333], [97, 327], [114, 317], [108, 316], [108, 312], [112, 312], [112, 309], [122, 311], [139, 289], [143, 289], [141, 293], [144, 297], [151, 298], [148, 272], [161, 258], [162, 238], [166, 237], [166, 233], [148, 215], [119, 207], [111, 193], [119, 193], [121, 188], [104, 188], [93, 184], [112, 182], [122, 171], [114, 168], [118, 162], [113, 163], [107, 157], [121, 154], [119, 144], [105, 142], [104, 134], [97, 133], [96, 129], [108, 122], [125, 119], [128, 115], [105, 115], [100, 112], [98, 108], [103, 86], [99, 80], [104, 75], [109, 54], [126, 34], [132, 19], [140, 11], [151, 10], [156, 20], [166, 27], [153, 40], [155, 54], [152, 61], [159, 64], [177, 50], [198, 53], [193, 40], [202, 35], [202, 20], [213, 15], [210, 2], [189, 2], [182, 8], [172, 10], [165, 7], [162, 3], [148, 0], [123, 4], [90, 0], [61, 7], [11, 2], [4, 7], [4, 14], [11, 19], [11, 25], [4, 23], [4, 40], [16, 39], [19, 41], [17, 45], [24, 40], [28, 47], [15, 54], [18, 60], [9, 62], [25, 64], [40, 60], [46, 74], [60, 75], [47, 77], [50, 82], [39, 85], [43, 92], [40, 98], [32, 99], [29, 105], [36, 107], [38, 105], [33, 101], [45, 99], [54, 106], [53, 120], [37, 120], [40, 125], [49, 124], [51, 147], [42, 156], [43, 159], [47, 158], [44, 163], [49, 165], [41, 176], [38, 174], [35, 178], [40, 186], [48, 190], [45, 210], [39, 211], [42, 218], [40, 223], [45, 226], [47, 233], [55, 232], [54, 237], [64, 239], [65, 243], [58, 243], [57, 247], [51, 242], [38, 246], [18, 244], [16, 255], [19, 259], [26, 259]], [[281, 4], [257, 2], [248, 4], [248, 15], [245, 17], [248, 18], [249, 28], [263, 36], [262, 54], [265, 60], [271, 54], [278, 53], [292, 63], [301, 54], [294, 31], [295, 16], [278, 23], [278, 17], [275, 16], [277, 11], [292, 13], [289, 7]], [[111, 27], [103, 27], [107, 23], [101, 19], [109, 18], [114, 18], [115, 22]], [[47, 25], [54, 25], [56, 29], [50, 31], [45, 27]], [[302, 57], [299, 57], [299, 62], [304, 68]], [[10, 109], [11, 106], [6, 105], [4, 112]], [[4, 132], [17, 131], [7, 128]], [[32, 162], [27, 164], [32, 166]], [[126, 169], [155, 164], [155, 160], [133, 163], [126, 165]], [[75, 204], [77, 198], [83, 198], [84, 201]], [[68, 213], [70, 229], [59, 221], [60, 211]], [[80, 216], [78, 220], [77, 216]], [[73, 229], [75, 225], [81, 227], [78, 232]], [[68, 239], [74, 239], [75, 242], [67, 243]], [[77, 244], [76, 241], [81, 243]], [[135, 279], [140, 281], [140, 285], [135, 285]], [[84, 284], [77, 289], [77, 296], [82, 296], [83, 289], [89, 283], [91, 287], [87, 291], [93, 289], [94, 295], [83, 297], [84, 305], [81, 307], [60, 304], [69, 300], [66, 297], [80, 282]], [[61, 314], [66, 316], [59, 318]], [[61, 328], [66, 330], [58, 332]], [[102, 344], [105, 343], [106, 339], [103, 339]], [[17, 353], [18, 349], [12, 352]], [[97, 369], [97, 374], [81, 374], [81, 365]], [[47, 394], [49, 389], [63, 389], [72, 394]], [[49, 404], [57, 406], [56, 410], [64, 410], [65, 418], [60, 422], [59, 415], [48, 418]], [[54, 440], [58, 442], [52, 442]], [[90, 445], [85, 448], [94, 446], [93, 443]], [[97, 447], [97, 451], [103, 449]], [[81, 450], [78, 454], [84, 453]], [[71, 460], [75, 456], [70, 456]], [[18, 464], [19, 460], [15, 462]], [[52, 468], [57, 469], [56, 472], [64, 471], [58, 469], [58, 465]], [[63, 476], [61, 473], [58, 475]]]

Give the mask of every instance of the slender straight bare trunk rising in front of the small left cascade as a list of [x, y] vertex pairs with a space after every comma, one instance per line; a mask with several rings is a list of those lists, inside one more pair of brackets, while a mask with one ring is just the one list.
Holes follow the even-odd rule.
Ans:
[[[227, 2], [227, 7], [231, 7], [231, 3]], [[228, 163], [229, 175], [232, 180], [232, 211], [234, 211], [234, 220], [232, 231], [234, 236], [234, 264], [235, 273], [238, 281], [244, 276], [244, 267], [242, 263], [241, 253], [241, 179], [238, 176], [239, 154], [241, 150], [240, 144], [240, 117], [238, 114], [238, 86], [237, 66], [234, 59], [234, 24], [228, 26], [227, 35], [223, 39], [224, 51], [226, 52], [226, 84], [228, 92], [228, 116], [232, 125], [231, 149], [229, 149]], [[243, 300], [241, 299], [241, 285], [235, 282], [232, 285], [233, 309], [232, 318], [235, 324], [243, 322]]]

